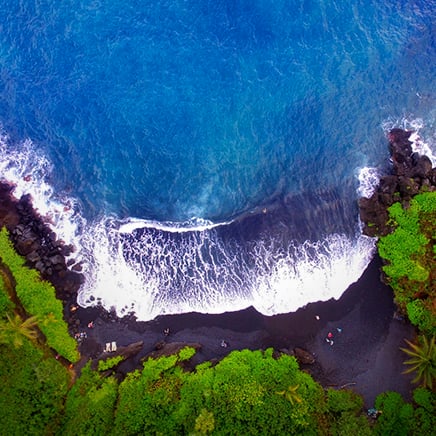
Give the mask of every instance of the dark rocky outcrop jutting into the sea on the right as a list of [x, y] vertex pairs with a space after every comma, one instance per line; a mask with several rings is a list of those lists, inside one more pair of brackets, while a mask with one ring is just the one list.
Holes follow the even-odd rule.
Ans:
[[385, 236], [393, 231], [387, 210], [393, 203], [399, 201], [407, 206], [419, 192], [436, 190], [436, 168], [432, 168], [427, 156], [413, 152], [409, 140], [412, 133], [402, 129], [390, 131], [391, 174], [380, 179], [370, 198], [359, 201], [363, 233], [367, 236]]

